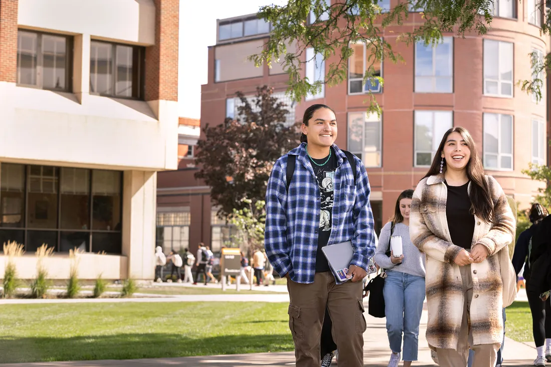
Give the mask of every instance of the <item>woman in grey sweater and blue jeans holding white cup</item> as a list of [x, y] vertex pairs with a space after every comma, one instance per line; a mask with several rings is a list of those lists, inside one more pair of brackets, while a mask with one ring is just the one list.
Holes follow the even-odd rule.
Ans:
[[[425, 255], [409, 240], [409, 214], [413, 190], [403, 191], [396, 200], [394, 217], [381, 229], [375, 263], [386, 269], [385, 298], [386, 331], [392, 354], [388, 367], [396, 367], [404, 341], [404, 367], [417, 360], [419, 323], [425, 300]], [[391, 236], [401, 238], [402, 253], [394, 255]], [[388, 255], [390, 251], [390, 256]]]

